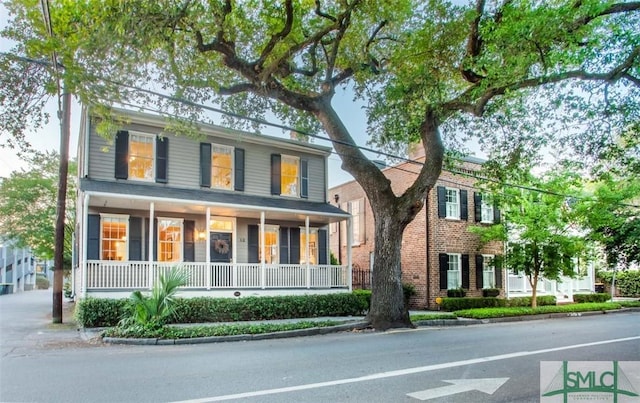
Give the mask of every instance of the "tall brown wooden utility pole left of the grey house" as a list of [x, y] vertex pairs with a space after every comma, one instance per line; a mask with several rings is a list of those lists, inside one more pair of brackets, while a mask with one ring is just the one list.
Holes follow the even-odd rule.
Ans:
[[58, 204], [56, 207], [56, 234], [53, 258], [53, 323], [62, 323], [62, 283], [64, 279], [64, 230], [69, 173], [69, 138], [71, 136], [71, 93], [66, 85], [62, 91], [60, 119], [60, 166], [58, 169]]

